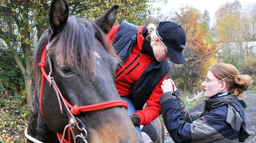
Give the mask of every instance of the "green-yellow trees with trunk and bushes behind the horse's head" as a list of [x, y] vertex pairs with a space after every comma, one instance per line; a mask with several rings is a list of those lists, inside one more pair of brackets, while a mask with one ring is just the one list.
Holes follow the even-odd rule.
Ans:
[[[93, 20], [106, 12], [114, 4], [119, 5], [118, 19], [143, 25], [147, 23], [146, 15], [150, 14], [155, 0], [67, 0], [70, 15]], [[1, 63], [0, 90], [18, 90], [24, 82], [32, 80], [31, 57], [43, 32], [48, 28], [48, 10], [51, 0], [1, 0], [0, 1], [0, 49], [9, 48], [14, 63]], [[8, 50], [8, 52], [9, 52]], [[2, 60], [1, 60], [2, 61]], [[5, 59], [5, 61], [8, 61]], [[11, 60], [13, 61], [13, 60]], [[18, 71], [20, 69], [20, 71]], [[8, 70], [8, 71], [7, 71]], [[22, 73], [22, 74], [21, 74]], [[21, 80], [23, 75], [24, 80]], [[23, 82], [23, 83], [22, 83]], [[26, 84], [28, 104], [32, 106], [33, 87]]]

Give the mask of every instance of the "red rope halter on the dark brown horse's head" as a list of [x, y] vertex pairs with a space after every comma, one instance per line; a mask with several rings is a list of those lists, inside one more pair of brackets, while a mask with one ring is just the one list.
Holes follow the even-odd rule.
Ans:
[[[52, 40], [52, 42], [54, 42], [54, 40]], [[106, 109], [106, 108], [110, 108], [110, 107], [117, 107], [117, 106], [124, 106], [126, 107], [126, 109], [128, 109], [128, 104], [125, 101], [122, 100], [115, 100], [115, 101], [107, 101], [107, 102], [103, 102], [103, 103], [98, 103], [98, 104], [93, 104], [93, 105], [86, 105], [86, 106], [81, 106], [79, 107], [78, 105], [74, 105], [72, 106], [70, 103], [67, 102], [67, 100], [62, 96], [58, 86], [56, 85], [54, 79], [51, 77], [51, 71], [50, 74], [47, 75], [46, 71], [45, 71], [45, 66], [46, 66], [46, 53], [47, 50], [50, 49], [50, 46], [52, 45], [52, 43], [50, 43], [49, 47], [47, 48], [47, 45], [49, 43], [46, 42], [46, 45], [43, 48], [42, 54], [41, 54], [41, 61], [40, 63], [38, 63], [39, 67], [41, 68], [42, 71], [42, 80], [41, 80], [41, 88], [40, 88], [40, 97], [39, 97], [39, 103], [40, 103], [40, 111], [41, 111], [41, 115], [43, 116], [43, 112], [42, 112], [42, 96], [43, 96], [43, 86], [44, 86], [44, 80], [46, 78], [46, 80], [48, 80], [50, 86], [52, 85], [56, 96], [59, 100], [59, 104], [60, 104], [60, 110], [61, 110], [61, 114], [63, 113], [62, 110], [62, 105], [61, 102], [63, 103], [65, 110], [67, 112], [67, 115], [69, 116], [69, 127], [68, 127], [68, 137], [69, 137], [69, 141], [64, 139], [64, 143], [71, 143], [71, 132], [73, 135], [73, 139], [74, 139], [74, 132], [73, 130], [71, 130], [71, 126], [72, 128], [74, 128], [77, 132], [82, 132], [83, 130], [78, 126], [78, 123], [81, 123], [79, 121], [79, 119], [75, 118], [74, 115], [78, 115], [80, 114], [81, 111], [95, 111], [95, 110], [100, 110], [100, 109]], [[48, 58], [48, 62], [49, 62], [49, 66], [51, 66], [50, 64], [50, 58]], [[50, 67], [51, 68], [51, 67]], [[70, 110], [69, 110], [70, 108]], [[70, 123], [70, 118], [74, 119], [75, 123]], [[65, 132], [65, 130], [64, 130]], [[57, 133], [58, 139], [59, 141], [61, 141], [62, 135]]]

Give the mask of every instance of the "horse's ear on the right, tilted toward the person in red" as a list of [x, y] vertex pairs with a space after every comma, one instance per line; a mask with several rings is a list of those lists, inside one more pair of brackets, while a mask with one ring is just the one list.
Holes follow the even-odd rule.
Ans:
[[106, 13], [95, 19], [95, 23], [107, 34], [117, 19], [118, 5], [112, 6]]

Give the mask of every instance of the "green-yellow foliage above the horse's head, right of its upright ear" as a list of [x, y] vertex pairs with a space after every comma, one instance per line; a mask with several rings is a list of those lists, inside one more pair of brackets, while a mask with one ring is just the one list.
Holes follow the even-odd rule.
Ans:
[[118, 4], [116, 23], [126, 20], [135, 25], [147, 24], [146, 16], [150, 14], [155, 0], [68, 0], [71, 15], [95, 19], [114, 4]]

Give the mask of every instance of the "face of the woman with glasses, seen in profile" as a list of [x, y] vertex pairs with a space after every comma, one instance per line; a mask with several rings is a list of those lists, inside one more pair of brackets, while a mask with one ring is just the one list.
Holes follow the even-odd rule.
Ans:
[[221, 80], [216, 78], [211, 71], [208, 71], [206, 80], [201, 85], [204, 87], [205, 97], [216, 95], [222, 87]]

